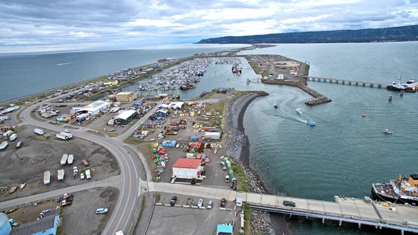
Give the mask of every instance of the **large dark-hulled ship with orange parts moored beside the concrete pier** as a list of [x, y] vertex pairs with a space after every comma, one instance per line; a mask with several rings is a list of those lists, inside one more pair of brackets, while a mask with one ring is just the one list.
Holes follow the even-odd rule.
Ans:
[[373, 183], [371, 194], [378, 201], [418, 206], [418, 174], [411, 174], [409, 178], [399, 175], [389, 183]]

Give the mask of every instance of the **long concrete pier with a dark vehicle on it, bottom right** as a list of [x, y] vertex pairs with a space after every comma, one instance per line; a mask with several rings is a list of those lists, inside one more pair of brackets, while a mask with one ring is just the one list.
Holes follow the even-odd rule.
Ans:
[[[301, 215], [325, 220], [371, 225], [397, 229], [401, 234], [406, 232], [418, 233], [418, 208], [416, 206], [396, 205], [396, 207], [383, 206], [375, 202], [366, 202], [363, 199], [336, 197], [336, 202], [326, 202], [295, 197], [281, 197], [275, 195], [262, 195], [251, 192], [237, 192], [237, 198], [253, 209]], [[283, 201], [295, 202], [296, 206], [284, 206]]]

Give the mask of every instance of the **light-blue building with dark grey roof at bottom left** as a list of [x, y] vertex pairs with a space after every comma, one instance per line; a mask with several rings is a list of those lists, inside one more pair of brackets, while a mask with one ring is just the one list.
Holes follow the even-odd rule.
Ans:
[[58, 227], [59, 209], [49, 211], [47, 215], [13, 229], [10, 235], [56, 235]]

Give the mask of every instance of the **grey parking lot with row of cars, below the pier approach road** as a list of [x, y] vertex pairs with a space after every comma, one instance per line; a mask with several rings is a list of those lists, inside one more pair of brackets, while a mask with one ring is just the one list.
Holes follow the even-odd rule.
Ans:
[[[162, 194], [160, 202], [169, 203], [173, 195]], [[197, 204], [199, 198], [190, 198], [187, 195], [176, 195], [177, 204]], [[203, 199], [203, 205], [206, 206], [210, 199]], [[219, 210], [219, 200], [212, 200], [214, 205], [212, 209], [189, 209], [174, 206], [155, 206], [153, 219], [148, 228], [148, 235], [159, 234], [216, 234], [217, 225], [232, 223], [235, 220], [233, 211]], [[228, 208], [233, 209], [233, 202], [227, 204]], [[238, 214], [239, 216], [239, 214]], [[176, 229], [173, 229], [176, 228]], [[235, 226], [234, 234], [238, 232], [239, 227]]]

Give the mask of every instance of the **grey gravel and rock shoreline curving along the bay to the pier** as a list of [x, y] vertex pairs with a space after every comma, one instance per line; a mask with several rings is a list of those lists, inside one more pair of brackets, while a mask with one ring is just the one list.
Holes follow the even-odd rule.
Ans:
[[[253, 93], [247, 96], [235, 97], [229, 102], [226, 121], [231, 137], [225, 151], [231, 158], [236, 160], [240, 168], [245, 172], [248, 192], [270, 193], [258, 172], [250, 167], [249, 139], [245, 135], [243, 125], [245, 110], [253, 100], [260, 96], [260, 94]], [[251, 234], [292, 234], [285, 215], [281, 214], [253, 211], [251, 213], [250, 227]]]

